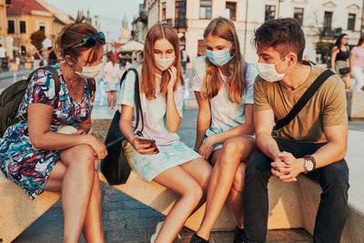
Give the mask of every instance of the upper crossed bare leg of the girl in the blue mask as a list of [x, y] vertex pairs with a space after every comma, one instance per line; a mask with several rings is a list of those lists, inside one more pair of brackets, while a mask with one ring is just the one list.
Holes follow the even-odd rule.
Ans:
[[230, 192], [240, 161], [248, 158], [254, 145], [254, 138], [251, 137], [232, 137], [224, 143], [221, 156], [217, 158], [208, 183], [206, 211], [197, 230], [199, 237], [209, 238], [210, 231]]

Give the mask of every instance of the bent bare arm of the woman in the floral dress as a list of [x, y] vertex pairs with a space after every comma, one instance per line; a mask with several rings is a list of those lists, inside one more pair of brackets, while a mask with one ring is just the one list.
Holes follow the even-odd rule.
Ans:
[[36, 149], [64, 150], [77, 145], [92, 147], [96, 156], [106, 157], [107, 151], [103, 143], [91, 135], [66, 135], [50, 131], [53, 107], [41, 103], [28, 106], [29, 139]]

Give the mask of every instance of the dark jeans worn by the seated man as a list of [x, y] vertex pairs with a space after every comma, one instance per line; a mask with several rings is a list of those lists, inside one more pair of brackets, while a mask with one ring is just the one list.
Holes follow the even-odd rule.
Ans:
[[[280, 151], [287, 151], [294, 157], [312, 155], [325, 145], [276, 141]], [[268, 180], [272, 176], [272, 159], [255, 147], [249, 162], [244, 187], [243, 238], [245, 243], [264, 242], [268, 228]], [[313, 242], [339, 243], [348, 214], [349, 167], [345, 159], [317, 168], [305, 176], [318, 181], [322, 187]]]

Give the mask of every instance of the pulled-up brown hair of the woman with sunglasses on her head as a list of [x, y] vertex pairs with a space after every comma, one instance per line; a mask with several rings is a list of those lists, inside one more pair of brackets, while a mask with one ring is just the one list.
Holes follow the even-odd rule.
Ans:
[[89, 56], [87, 57], [86, 64], [88, 64], [97, 60], [97, 54], [105, 43], [97, 39], [96, 45], [93, 47], [73, 47], [77, 44], [80, 44], [82, 42], [82, 38], [86, 35], [97, 34], [97, 30], [93, 25], [83, 23], [85, 18], [86, 17], [82, 14], [82, 12], [78, 11], [76, 22], [63, 27], [56, 38], [56, 50], [62, 57], [68, 55], [77, 59], [83, 51], [87, 50], [88, 48], [92, 48]]

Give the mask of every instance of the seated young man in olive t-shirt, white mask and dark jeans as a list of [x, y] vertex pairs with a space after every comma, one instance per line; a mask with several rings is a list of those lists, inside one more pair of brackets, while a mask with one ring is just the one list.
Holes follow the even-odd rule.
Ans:
[[269, 177], [289, 183], [301, 173], [319, 181], [323, 189], [314, 242], [339, 243], [349, 189], [344, 83], [339, 76], [330, 76], [298, 115], [272, 135], [275, 119], [285, 117], [324, 70], [302, 61], [305, 36], [293, 18], [260, 25], [254, 42], [259, 58], [254, 85], [257, 147], [244, 187], [245, 228], [234, 243], [266, 240]]

